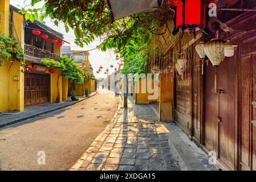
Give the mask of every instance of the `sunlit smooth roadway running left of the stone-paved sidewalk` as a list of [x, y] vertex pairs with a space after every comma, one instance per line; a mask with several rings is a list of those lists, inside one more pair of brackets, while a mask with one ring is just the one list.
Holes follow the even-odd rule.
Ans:
[[[119, 97], [99, 93], [76, 105], [0, 130], [0, 170], [68, 170], [113, 118]], [[39, 165], [38, 152], [46, 154]]]

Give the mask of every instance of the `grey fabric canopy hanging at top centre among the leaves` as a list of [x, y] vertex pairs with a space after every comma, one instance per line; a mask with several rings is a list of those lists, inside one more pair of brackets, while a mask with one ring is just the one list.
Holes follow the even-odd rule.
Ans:
[[114, 19], [133, 14], [149, 13], [159, 7], [158, 0], [109, 0]]

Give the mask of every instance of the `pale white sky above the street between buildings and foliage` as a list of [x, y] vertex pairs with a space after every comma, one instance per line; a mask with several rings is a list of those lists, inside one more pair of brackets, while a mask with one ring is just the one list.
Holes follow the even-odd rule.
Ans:
[[[10, 0], [10, 4], [21, 9], [21, 7], [30, 5], [30, 1], [31, 0]], [[37, 3], [35, 7], [36, 8], [42, 7], [42, 3]], [[30, 6], [27, 6], [27, 7], [30, 7]], [[72, 50], [87, 51], [87, 50], [96, 48], [96, 46], [100, 44], [100, 39], [95, 39], [93, 43], [89, 44], [88, 46], [85, 45], [83, 48], [81, 48], [79, 46], [76, 46], [76, 44], [74, 43], [75, 34], [72, 29], [69, 32], [66, 32], [63, 23], [59, 24], [59, 26], [56, 27], [50, 18], [45, 19], [45, 22], [48, 27], [51, 27], [52, 29], [64, 35], [64, 40], [66, 40], [70, 44], [65, 43], [63, 44], [63, 46], [70, 46]], [[109, 74], [113, 73], [115, 68], [118, 68], [116, 55], [112, 50], [107, 50], [106, 52], [102, 52], [99, 49], [95, 49], [93, 51], [90, 51], [89, 60], [90, 60], [90, 63], [92, 64], [92, 67], [94, 68], [94, 75], [96, 76], [96, 78], [106, 77], [107, 75], [105, 75], [104, 72], [107, 68], [109, 69]], [[103, 69], [99, 74], [97, 74], [96, 71], [98, 71], [101, 65], [103, 66]], [[110, 65], [113, 65], [114, 67], [111, 68]]]

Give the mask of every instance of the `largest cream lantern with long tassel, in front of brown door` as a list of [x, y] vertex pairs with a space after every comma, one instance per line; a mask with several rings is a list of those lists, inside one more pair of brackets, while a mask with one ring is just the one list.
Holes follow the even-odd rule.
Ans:
[[224, 41], [220, 39], [212, 39], [210, 42], [205, 44], [204, 50], [206, 56], [215, 67], [214, 92], [217, 92], [217, 68], [225, 58]]

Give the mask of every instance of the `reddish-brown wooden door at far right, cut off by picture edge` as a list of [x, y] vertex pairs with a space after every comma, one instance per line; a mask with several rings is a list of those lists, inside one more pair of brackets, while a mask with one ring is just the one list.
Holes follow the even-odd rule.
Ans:
[[256, 170], [256, 54], [241, 59], [240, 169]]

